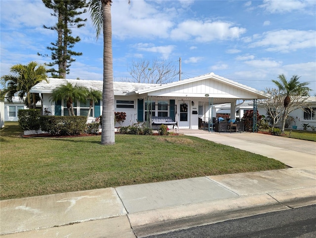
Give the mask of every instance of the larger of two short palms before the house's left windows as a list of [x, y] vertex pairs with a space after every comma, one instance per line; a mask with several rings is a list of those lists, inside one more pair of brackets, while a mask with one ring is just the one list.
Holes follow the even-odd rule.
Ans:
[[56, 87], [51, 95], [51, 100], [57, 102], [60, 100], [66, 100], [67, 109], [69, 115], [75, 116], [73, 102], [85, 101], [86, 88], [80, 87], [77, 84], [75, 86], [66, 81], [66, 84]]

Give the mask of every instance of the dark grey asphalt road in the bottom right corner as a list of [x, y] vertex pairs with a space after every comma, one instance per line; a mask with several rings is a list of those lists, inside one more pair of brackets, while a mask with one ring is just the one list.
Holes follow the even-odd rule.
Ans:
[[316, 205], [194, 227], [148, 238], [315, 238]]

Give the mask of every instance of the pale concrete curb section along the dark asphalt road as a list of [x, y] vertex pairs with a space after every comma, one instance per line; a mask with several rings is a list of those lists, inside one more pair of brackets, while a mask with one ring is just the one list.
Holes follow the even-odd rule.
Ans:
[[316, 187], [227, 198], [127, 214], [138, 237], [316, 204]]

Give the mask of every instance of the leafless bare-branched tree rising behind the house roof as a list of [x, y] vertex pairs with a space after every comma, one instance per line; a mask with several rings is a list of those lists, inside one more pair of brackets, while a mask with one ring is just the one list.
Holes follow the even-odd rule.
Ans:
[[153, 59], [152, 62], [145, 59], [132, 60], [127, 71], [132, 79], [124, 81], [138, 83], [168, 83], [174, 81], [178, 75], [172, 62], [158, 59]]

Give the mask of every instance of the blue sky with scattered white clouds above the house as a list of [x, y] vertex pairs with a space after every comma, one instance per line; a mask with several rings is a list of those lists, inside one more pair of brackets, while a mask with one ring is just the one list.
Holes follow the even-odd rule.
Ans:
[[[213, 72], [258, 90], [275, 88], [284, 74], [310, 82], [316, 95], [316, 1], [305, 0], [113, 0], [114, 80], [131, 78], [136, 60], [166, 60], [181, 79]], [[15, 64], [51, 62], [46, 49], [57, 40], [41, 0], [0, 0], [0, 76]], [[67, 79], [102, 80], [103, 37], [96, 39], [89, 13]], [[179, 80], [177, 76], [175, 80]]]

